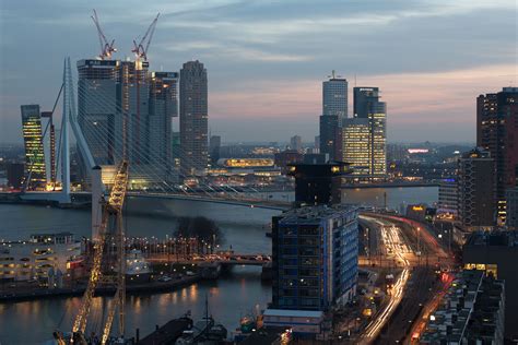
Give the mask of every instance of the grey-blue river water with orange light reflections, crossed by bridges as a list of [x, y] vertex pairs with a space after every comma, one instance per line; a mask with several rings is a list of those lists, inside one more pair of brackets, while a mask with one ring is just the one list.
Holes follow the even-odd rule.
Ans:
[[[437, 201], [436, 187], [373, 188], [344, 191], [348, 203], [384, 204], [387, 193], [389, 207], [399, 210], [402, 203]], [[286, 200], [293, 199], [286, 194]], [[264, 225], [279, 212], [243, 206], [175, 200], [132, 200], [127, 212], [139, 211], [139, 216], [126, 216], [128, 236], [156, 236], [164, 238], [176, 228], [178, 216], [203, 215], [214, 219], [222, 229], [223, 248], [244, 253], [270, 253], [270, 239]], [[71, 231], [78, 238], [90, 235], [87, 210], [61, 210], [33, 205], [0, 204], [0, 239], [25, 239], [36, 233]], [[204, 298], [209, 298], [210, 313], [231, 332], [239, 317], [255, 308], [266, 308], [271, 299], [271, 286], [260, 281], [260, 267], [234, 267], [216, 282], [199, 283], [172, 293], [128, 297], [127, 336], [140, 329], [141, 336], [173, 318], [191, 311], [193, 319], [204, 312]], [[102, 298], [95, 304], [101, 306]], [[57, 328], [70, 330], [80, 298], [56, 298], [16, 304], [0, 304], [0, 344], [42, 344], [51, 338]], [[258, 307], [257, 307], [258, 306]], [[97, 308], [96, 310], [101, 310]]]

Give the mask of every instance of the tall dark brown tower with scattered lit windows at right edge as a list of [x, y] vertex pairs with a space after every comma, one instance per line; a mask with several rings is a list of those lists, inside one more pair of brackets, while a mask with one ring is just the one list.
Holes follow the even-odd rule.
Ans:
[[495, 162], [497, 221], [506, 218], [506, 188], [516, 186], [518, 176], [518, 87], [476, 98], [476, 145]]

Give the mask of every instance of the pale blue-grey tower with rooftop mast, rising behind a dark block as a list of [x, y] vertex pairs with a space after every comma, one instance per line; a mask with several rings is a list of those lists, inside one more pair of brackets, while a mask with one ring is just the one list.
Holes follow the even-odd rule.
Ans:
[[334, 71], [322, 82], [322, 115], [338, 116], [339, 126], [348, 117], [348, 80], [334, 75]]

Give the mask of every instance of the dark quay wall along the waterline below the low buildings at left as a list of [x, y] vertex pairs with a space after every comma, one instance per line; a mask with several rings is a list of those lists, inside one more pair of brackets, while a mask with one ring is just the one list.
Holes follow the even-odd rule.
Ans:
[[[177, 277], [170, 282], [148, 282], [142, 284], [130, 284], [126, 286], [127, 295], [150, 295], [166, 293], [176, 288], [186, 287], [201, 281], [201, 275]], [[32, 290], [1, 292], [0, 304], [38, 300], [45, 298], [76, 297], [84, 294], [86, 286], [76, 288], [38, 288]], [[95, 296], [109, 296], [115, 294], [114, 287], [99, 287], [95, 289]]]

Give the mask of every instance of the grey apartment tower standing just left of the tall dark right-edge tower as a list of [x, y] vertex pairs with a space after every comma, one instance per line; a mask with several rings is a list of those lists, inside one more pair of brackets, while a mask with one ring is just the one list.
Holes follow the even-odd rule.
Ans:
[[494, 159], [480, 147], [462, 155], [458, 168], [458, 213], [466, 230], [495, 225]]

